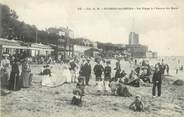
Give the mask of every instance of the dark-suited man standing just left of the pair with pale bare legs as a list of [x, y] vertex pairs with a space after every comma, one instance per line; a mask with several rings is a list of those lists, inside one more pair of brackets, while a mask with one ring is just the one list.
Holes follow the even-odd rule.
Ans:
[[91, 76], [91, 64], [90, 59], [87, 59], [87, 63], [84, 65], [84, 75], [85, 75], [85, 83], [86, 85], [89, 85], [89, 79]]

